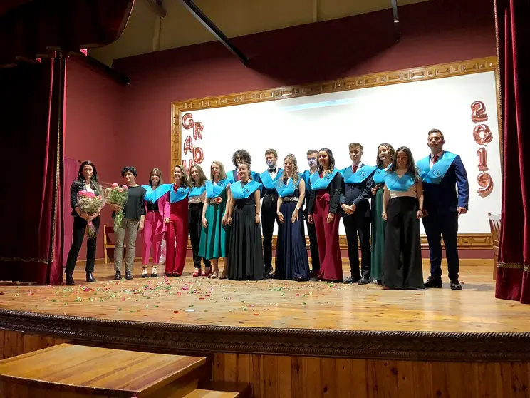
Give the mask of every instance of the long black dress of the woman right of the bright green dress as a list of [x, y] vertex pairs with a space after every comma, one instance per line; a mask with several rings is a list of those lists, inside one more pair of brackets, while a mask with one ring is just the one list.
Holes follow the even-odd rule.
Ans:
[[261, 246], [261, 226], [256, 224], [254, 194], [246, 199], [234, 199], [230, 232], [228, 279], [261, 280], [265, 263]]

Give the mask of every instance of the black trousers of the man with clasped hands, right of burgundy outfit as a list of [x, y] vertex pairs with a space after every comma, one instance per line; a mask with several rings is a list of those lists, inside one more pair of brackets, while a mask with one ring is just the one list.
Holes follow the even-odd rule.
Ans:
[[[363, 212], [365, 213], [365, 212]], [[343, 214], [343, 223], [348, 240], [348, 258], [350, 260], [351, 276], [358, 277], [360, 274], [370, 277], [372, 252], [370, 251], [370, 217], [363, 214]], [[357, 235], [359, 239], [357, 240]], [[359, 247], [360, 243], [360, 270], [359, 270]]]

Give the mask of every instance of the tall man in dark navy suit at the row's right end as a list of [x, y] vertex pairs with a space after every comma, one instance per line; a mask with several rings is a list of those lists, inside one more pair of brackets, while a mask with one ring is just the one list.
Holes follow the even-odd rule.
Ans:
[[442, 243], [452, 290], [461, 290], [458, 280], [458, 216], [467, 213], [469, 184], [459, 155], [443, 149], [444, 135], [433, 128], [428, 133], [431, 153], [417, 162], [423, 179], [423, 226], [429, 243], [431, 275], [425, 288], [442, 287]]

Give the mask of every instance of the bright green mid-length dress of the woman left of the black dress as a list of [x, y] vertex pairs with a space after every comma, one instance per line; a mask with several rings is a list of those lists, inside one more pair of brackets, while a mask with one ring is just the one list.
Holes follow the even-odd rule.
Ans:
[[[202, 228], [199, 243], [199, 256], [211, 260], [212, 258], [228, 257], [228, 244], [230, 236], [229, 225], [223, 226], [223, 215], [227, 205], [227, 189], [224, 188], [219, 195], [222, 202], [208, 203], [206, 220], [208, 228]], [[209, 200], [209, 199], [207, 199]]]

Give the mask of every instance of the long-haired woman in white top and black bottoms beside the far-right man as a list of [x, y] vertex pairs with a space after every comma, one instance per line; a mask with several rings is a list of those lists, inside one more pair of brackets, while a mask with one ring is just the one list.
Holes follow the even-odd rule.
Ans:
[[423, 185], [410, 149], [402, 146], [385, 175], [383, 215], [387, 223], [383, 288], [423, 289], [420, 218]]

